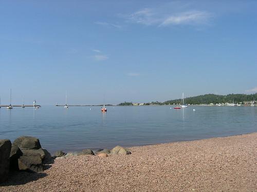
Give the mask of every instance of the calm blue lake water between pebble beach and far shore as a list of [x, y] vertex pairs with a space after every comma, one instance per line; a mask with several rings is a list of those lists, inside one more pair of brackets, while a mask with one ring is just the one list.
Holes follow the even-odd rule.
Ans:
[[168, 105], [107, 106], [106, 113], [99, 106], [0, 109], [0, 139], [38, 137], [50, 153], [252, 132], [257, 132], [257, 107], [253, 106], [190, 106], [181, 110]]

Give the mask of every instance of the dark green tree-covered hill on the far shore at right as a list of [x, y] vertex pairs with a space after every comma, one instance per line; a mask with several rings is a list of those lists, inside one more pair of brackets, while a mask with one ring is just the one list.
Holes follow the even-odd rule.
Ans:
[[[181, 99], [168, 100], [163, 102], [163, 104], [173, 104], [180, 103]], [[209, 103], [232, 103], [233, 101], [236, 103], [240, 103], [243, 101], [253, 101], [257, 100], [257, 93], [255, 94], [229, 94], [229, 95], [215, 95], [215, 94], [206, 94], [199, 95], [195, 97], [188, 97], [184, 99], [185, 104], [209, 104]]]

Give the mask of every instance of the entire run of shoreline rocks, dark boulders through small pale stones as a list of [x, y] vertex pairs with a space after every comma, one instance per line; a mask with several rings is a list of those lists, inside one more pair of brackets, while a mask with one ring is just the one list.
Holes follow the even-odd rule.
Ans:
[[81, 152], [70, 152], [65, 154], [62, 151], [50, 153], [41, 147], [38, 138], [21, 136], [11, 143], [8, 139], [0, 140], [0, 183], [8, 179], [9, 170], [27, 171], [39, 173], [43, 171], [44, 164], [52, 164], [54, 158], [69, 158], [72, 156], [97, 155], [108, 157], [109, 155], [128, 155], [131, 152], [124, 147], [116, 146], [112, 150], [98, 150], [93, 152], [90, 149]]

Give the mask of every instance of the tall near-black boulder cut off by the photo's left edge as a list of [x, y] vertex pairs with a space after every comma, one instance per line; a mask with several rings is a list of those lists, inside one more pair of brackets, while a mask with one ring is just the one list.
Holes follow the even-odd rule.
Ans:
[[8, 179], [9, 174], [9, 157], [12, 143], [9, 139], [0, 140], [0, 183]]

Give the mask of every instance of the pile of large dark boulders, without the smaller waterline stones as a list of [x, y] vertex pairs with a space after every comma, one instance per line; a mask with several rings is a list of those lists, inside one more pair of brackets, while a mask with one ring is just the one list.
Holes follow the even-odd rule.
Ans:
[[0, 183], [8, 178], [9, 170], [39, 173], [43, 164], [53, 163], [50, 153], [41, 147], [38, 138], [21, 136], [11, 143], [0, 140]]

